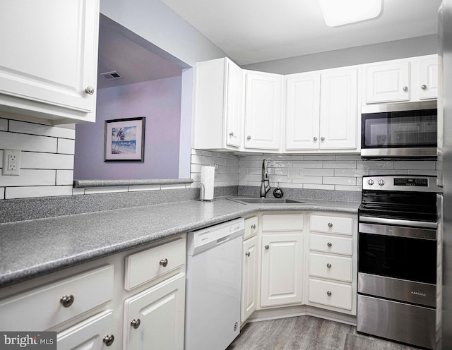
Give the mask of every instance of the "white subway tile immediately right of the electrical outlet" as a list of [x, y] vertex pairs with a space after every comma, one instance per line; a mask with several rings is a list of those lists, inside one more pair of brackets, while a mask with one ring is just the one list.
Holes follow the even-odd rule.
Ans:
[[23, 169], [73, 169], [73, 155], [55, 153], [22, 152], [20, 167]]

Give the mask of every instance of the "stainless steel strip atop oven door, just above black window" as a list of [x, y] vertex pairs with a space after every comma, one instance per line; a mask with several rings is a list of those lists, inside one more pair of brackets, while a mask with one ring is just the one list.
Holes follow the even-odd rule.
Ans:
[[410, 239], [436, 240], [436, 229], [368, 224], [367, 222], [359, 222], [359, 234], [380, 234], [383, 236], [397, 236]]

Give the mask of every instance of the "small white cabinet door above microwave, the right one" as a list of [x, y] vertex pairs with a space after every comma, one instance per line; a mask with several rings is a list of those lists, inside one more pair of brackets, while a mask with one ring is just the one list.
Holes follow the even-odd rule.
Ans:
[[438, 97], [438, 56], [430, 55], [419, 61], [419, 98]]

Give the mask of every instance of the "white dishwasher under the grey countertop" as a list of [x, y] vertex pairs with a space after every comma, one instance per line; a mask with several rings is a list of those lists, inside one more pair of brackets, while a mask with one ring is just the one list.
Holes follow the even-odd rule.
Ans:
[[189, 232], [185, 350], [225, 350], [240, 332], [244, 219]]

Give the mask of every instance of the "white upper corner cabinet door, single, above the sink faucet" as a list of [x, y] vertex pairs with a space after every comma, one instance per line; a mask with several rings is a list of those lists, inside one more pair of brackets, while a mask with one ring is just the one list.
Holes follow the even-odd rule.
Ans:
[[245, 148], [280, 150], [283, 76], [245, 71]]

